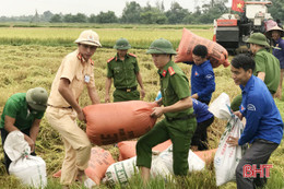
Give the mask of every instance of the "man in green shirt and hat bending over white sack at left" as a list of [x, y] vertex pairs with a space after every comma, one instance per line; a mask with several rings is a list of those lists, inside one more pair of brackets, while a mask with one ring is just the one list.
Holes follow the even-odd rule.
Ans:
[[[35, 155], [36, 137], [47, 107], [47, 98], [48, 94], [45, 88], [35, 87], [28, 90], [27, 93], [16, 93], [7, 101], [0, 123], [2, 146], [9, 132], [20, 130], [31, 146], [32, 155]], [[9, 173], [11, 160], [5, 152], [4, 163]]]

